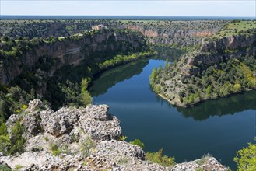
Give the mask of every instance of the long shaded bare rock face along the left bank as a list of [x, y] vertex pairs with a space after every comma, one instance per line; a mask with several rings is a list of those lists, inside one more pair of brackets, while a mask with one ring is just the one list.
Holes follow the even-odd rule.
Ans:
[[93, 58], [92, 54], [100, 51], [139, 51], [146, 47], [146, 41], [138, 33], [103, 30], [100, 33], [91, 35], [78, 35], [76, 37], [66, 37], [54, 43], [44, 43], [33, 47], [26, 54], [15, 58], [3, 58], [0, 70], [0, 82], [9, 84], [20, 75], [25, 68], [33, 68], [40, 58], [54, 58], [54, 66], [48, 71], [51, 76], [56, 69], [64, 65], [79, 65], [79, 61]]

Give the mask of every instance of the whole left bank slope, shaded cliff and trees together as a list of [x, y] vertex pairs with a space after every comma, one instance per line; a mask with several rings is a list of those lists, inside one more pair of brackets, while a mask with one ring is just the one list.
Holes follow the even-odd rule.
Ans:
[[35, 97], [54, 110], [91, 103], [86, 89], [93, 75], [153, 54], [141, 33], [117, 29], [32, 40], [3, 36], [0, 46], [0, 96], [9, 108], [0, 109], [4, 120]]

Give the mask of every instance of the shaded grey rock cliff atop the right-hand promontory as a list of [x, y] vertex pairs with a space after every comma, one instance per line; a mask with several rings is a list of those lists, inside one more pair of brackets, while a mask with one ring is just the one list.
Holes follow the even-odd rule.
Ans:
[[[194, 55], [188, 55], [188, 63], [191, 65], [205, 67], [218, 64], [227, 58], [238, 58], [240, 56], [256, 56], [256, 32], [252, 34], [240, 34], [230, 37], [223, 37], [219, 40], [212, 40], [205, 43], [202, 41], [201, 51]], [[197, 74], [191, 69], [191, 75]]]

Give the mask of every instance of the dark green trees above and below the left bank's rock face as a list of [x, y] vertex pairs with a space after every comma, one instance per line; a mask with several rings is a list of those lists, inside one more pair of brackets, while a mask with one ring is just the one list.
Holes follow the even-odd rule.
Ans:
[[[110, 30], [128, 37], [142, 37], [132, 30]], [[100, 35], [101, 31], [82, 32], [71, 37], [47, 37], [33, 38], [29, 40], [22, 37], [2, 36], [0, 45], [0, 61], [2, 65], [12, 65], [12, 62], [23, 60], [23, 56], [29, 52], [37, 51], [37, 47], [51, 44], [61, 44], [62, 41], [77, 41], [83, 37], [89, 39]], [[140, 38], [138, 38], [140, 39]], [[109, 39], [106, 44], [117, 44]], [[52, 77], [49, 77], [51, 68], [58, 66], [58, 58], [41, 56], [32, 67], [21, 65], [22, 74], [16, 77], [8, 86], [0, 86], [0, 118], [3, 122], [12, 113], [19, 113], [22, 106], [31, 99], [45, 99], [51, 103], [54, 110], [59, 106], [81, 106], [92, 103], [92, 97], [87, 90], [93, 75], [108, 68], [128, 63], [139, 58], [153, 55], [154, 51], [148, 51], [145, 46], [132, 48], [132, 44], [122, 41], [122, 46], [128, 47], [117, 51], [94, 51], [89, 59], [80, 61], [77, 67], [66, 65], [58, 69]], [[124, 44], [125, 43], [125, 44]], [[118, 44], [117, 44], [118, 45]], [[139, 46], [141, 46], [139, 44]], [[88, 50], [86, 50], [88, 51]], [[8, 62], [7, 62], [8, 61]], [[2, 66], [3, 67], [3, 66]], [[8, 67], [8, 66], [7, 66]], [[11, 66], [9, 66], [11, 67]]]

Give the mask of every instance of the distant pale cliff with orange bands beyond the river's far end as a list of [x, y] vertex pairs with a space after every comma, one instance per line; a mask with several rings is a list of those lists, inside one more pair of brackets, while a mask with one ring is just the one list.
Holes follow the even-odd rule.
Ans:
[[153, 21], [128, 23], [124, 27], [141, 32], [151, 44], [196, 45], [225, 24], [226, 21]]

